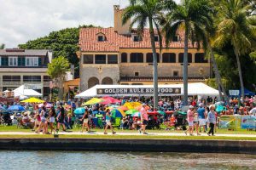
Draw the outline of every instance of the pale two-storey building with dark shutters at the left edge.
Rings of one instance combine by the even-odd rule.
[[[0,92],[27,84],[48,96],[50,78],[46,71],[51,59],[52,52],[45,49],[1,49]]]

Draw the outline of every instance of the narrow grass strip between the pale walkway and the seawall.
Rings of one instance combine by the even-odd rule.
[[[54,139],[53,135],[29,134],[29,135],[12,135],[0,134],[0,139]],[[150,136],[150,135],[78,135],[65,134],[59,135],[60,139],[184,139],[184,140],[253,140],[256,137],[225,137],[225,136]]]

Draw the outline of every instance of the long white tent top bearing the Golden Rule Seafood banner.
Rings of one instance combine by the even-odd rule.
[[[133,93],[126,93],[126,94],[120,94],[116,92],[121,92],[121,90],[124,90],[125,88],[132,88]],[[147,93],[147,94],[140,94],[140,89],[142,88],[153,88],[153,85],[96,85],[92,88],[89,88],[85,90],[83,93],[78,94],[75,96],[75,98],[91,98],[91,97],[101,97],[104,95],[108,96],[153,96],[153,93]],[[159,85],[159,88],[163,89],[165,91],[169,88],[179,88],[180,93],[159,93],[159,96],[172,96],[172,95],[183,95],[183,84],[165,84],[165,85]],[[112,93],[109,94],[100,94],[99,91],[104,89],[112,90]],[[148,90],[148,89],[147,89]],[[150,91],[150,90],[149,90]],[[161,91],[161,90],[160,90]],[[130,91],[131,92],[131,91]],[[138,93],[137,93],[138,92]],[[206,84],[202,82],[197,83],[189,83],[188,86],[188,94],[189,95],[199,95],[199,96],[218,96],[218,90],[211,88],[207,86]]]

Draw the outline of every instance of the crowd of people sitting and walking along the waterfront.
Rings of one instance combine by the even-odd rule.
[[[209,136],[214,135],[218,125],[218,117],[221,115],[256,115],[255,97],[245,99],[243,105],[237,99],[230,99],[230,106],[224,102],[218,102],[217,98],[212,99],[192,99],[189,98],[189,108],[183,111],[183,102],[181,99],[164,98],[160,99],[159,108],[153,108],[153,98],[124,98],[117,105],[124,105],[125,102],[140,102],[142,107],[138,110],[138,116],[123,116],[118,125],[120,129],[136,129],[139,133],[148,134],[146,129],[162,128],[183,130],[189,135],[201,135],[201,132],[207,133]],[[2,104],[8,108],[7,105]],[[78,107],[75,102],[69,99],[67,102],[57,101],[49,107],[47,103],[44,105],[25,104],[27,111],[15,113],[14,117],[18,125],[32,127],[35,133],[58,133],[60,129],[67,131],[72,129],[75,123],[81,124],[81,132],[84,128],[90,132],[91,128],[96,127],[93,119],[102,119],[102,127],[104,134],[108,134],[108,128],[112,133],[113,122],[112,111],[108,109],[109,105],[90,105],[84,107],[84,113],[75,115],[74,110]],[[218,108],[221,111],[218,111]],[[169,114],[161,115],[156,111],[169,112]],[[101,113],[102,117],[97,117]],[[151,114],[154,113],[154,114]],[[165,125],[165,126],[162,126]],[[188,127],[188,128],[187,128]],[[207,132],[207,128],[209,131]]]

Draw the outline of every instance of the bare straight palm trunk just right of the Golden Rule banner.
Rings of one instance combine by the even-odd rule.
[[[188,105],[188,51],[189,51],[189,30],[185,27],[184,55],[183,55],[183,105]]]

